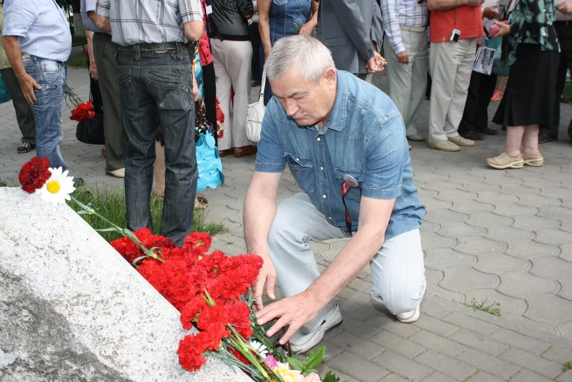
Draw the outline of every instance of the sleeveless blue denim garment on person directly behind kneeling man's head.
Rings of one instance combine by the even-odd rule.
[[[272,45],[284,36],[298,34],[308,22],[312,0],[272,0],[268,13]]]

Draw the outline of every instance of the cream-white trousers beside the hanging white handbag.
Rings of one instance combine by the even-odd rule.
[[[213,38],[210,49],[215,64],[217,77],[216,96],[224,113],[224,136],[219,138],[219,150],[251,145],[245,128],[248,117],[248,101],[250,95],[250,77],[252,61],[252,44],[250,41],[231,41]],[[231,86],[235,91],[232,108],[232,125],[229,109],[231,108]]]

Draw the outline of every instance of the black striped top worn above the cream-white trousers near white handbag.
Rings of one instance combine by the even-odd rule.
[[[210,38],[247,41],[250,39],[246,17],[254,13],[252,0],[210,0],[212,13],[206,25]]]

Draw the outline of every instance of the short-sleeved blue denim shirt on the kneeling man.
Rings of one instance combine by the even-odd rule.
[[[359,182],[359,188],[345,196],[353,232],[358,229],[362,196],[395,198],[386,240],[419,228],[425,207],[413,183],[399,110],[377,87],[346,71],[336,72],[335,104],[321,129],[297,125],[272,97],[262,122],[255,171],[277,173],[288,165],[312,204],[345,233],[344,175]]]

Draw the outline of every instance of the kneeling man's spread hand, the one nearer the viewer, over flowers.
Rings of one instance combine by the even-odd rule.
[[[309,323],[323,306],[310,293],[302,292],[298,295],[287,297],[256,312],[257,324],[264,325],[274,319],[278,319],[266,332],[272,337],[281,328],[288,325],[288,330],[280,338],[280,344],[284,345],[296,333],[302,325]]]

